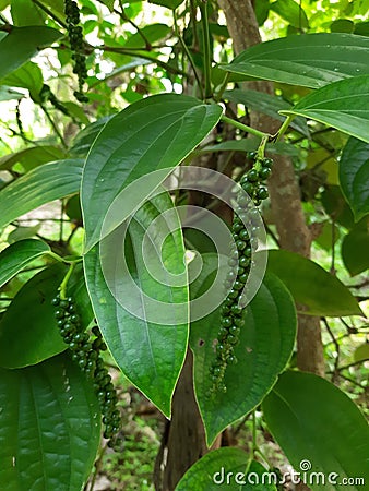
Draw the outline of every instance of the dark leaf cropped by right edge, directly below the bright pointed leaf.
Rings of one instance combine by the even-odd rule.
[[[356,220],[369,213],[369,144],[350,137],[340,159],[340,185]]]

